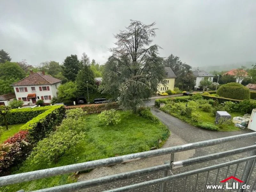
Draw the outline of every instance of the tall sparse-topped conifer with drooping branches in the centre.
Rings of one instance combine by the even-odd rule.
[[[145,25],[131,20],[125,30],[115,35],[116,47],[111,48],[103,75],[103,93],[120,98],[121,107],[132,109],[144,105],[143,99],[164,84],[163,59],[158,56],[158,45],[151,45],[156,36],[155,23]]]

